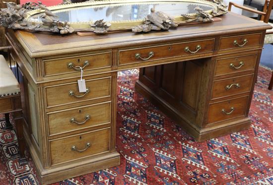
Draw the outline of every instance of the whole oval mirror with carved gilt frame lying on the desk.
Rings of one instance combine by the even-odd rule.
[[[222,0],[63,0],[49,7],[34,2],[6,4],[0,11],[0,26],[60,34],[168,30],[189,22],[211,22],[212,17],[227,13]]]

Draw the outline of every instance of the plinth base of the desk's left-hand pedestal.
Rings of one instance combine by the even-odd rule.
[[[26,132],[24,132],[24,135],[35,164],[38,178],[42,185],[49,185],[120,165],[120,154],[117,151],[114,151],[108,154],[98,155],[97,157],[87,158],[81,161],[78,160],[77,162],[71,162],[61,166],[59,165],[58,167],[43,169],[34,145],[30,141],[29,135]]]

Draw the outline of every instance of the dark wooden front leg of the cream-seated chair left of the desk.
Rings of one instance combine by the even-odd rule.
[[[16,131],[16,136],[17,136],[18,145],[19,145],[19,153],[20,153],[19,164],[25,165],[27,164],[27,160],[25,157],[25,141],[24,141],[24,135],[23,135],[24,118],[22,116],[22,112],[19,111],[14,113],[13,119],[15,123],[15,131]]]

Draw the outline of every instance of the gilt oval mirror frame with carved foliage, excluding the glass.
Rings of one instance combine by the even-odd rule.
[[[64,0],[62,4],[55,6],[44,6],[43,4],[29,3],[21,6],[18,9],[14,4],[7,2],[7,8],[2,8],[0,11],[0,25],[12,29],[25,29],[31,31],[49,31],[67,34],[73,32],[95,32],[107,33],[108,31],[132,30],[133,32],[148,32],[151,30],[167,30],[175,28],[179,25],[188,24],[190,22],[212,22],[213,17],[222,15],[227,12],[227,6],[222,0],[90,0],[85,2],[67,3],[69,0]],[[148,4],[148,3],[171,3],[171,2],[188,2],[210,6],[211,9],[203,10],[199,6],[195,7],[196,13],[181,14],[178,16],[169,16],[164,11],[157,11],[151,8],[150,14],[147,14],[143,19],[137,20],[122,20],[105,22],[103,19],[95,22],[67,22],[58,20],[55,12],[67,11],[68,8],[80,9],[86,6],[102,7],[117,4]],[[8,12],[8,13],[6,13]],[[15,12],[16,15],[21,15],[20,18],[7,24],[5,18],[7,15]],[[2,16],[1,16],[2,15]],[[10,15],[10,17],[12,17]],[[149,17],[149,18],[147,18]],[[7,20],[6,18],[6,20]],[[36,20],[37,19],[37,20]],[[156,20],[154,20],[156,19]],[[163,20],[163,21],[162,21]]]

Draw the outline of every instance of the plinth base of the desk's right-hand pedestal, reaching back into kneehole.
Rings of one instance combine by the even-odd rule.
[[[181,114],[179,114],[179,112],[174,107],[156,95],[151,89],[149,89],[140,81],[136,81],[136,91],[149,99],[150,102],[156,105],[162,112],[168,115],[177,124],[181,125],[187,131],[187,133],[192,135],[197,141],[205,141],[218,136],[230,134],[232,132],[248,129],[250,127],[250,118],[243,118],[221,125],[199,128],[197,125],[187,122],[184,118],[181,117]]]

